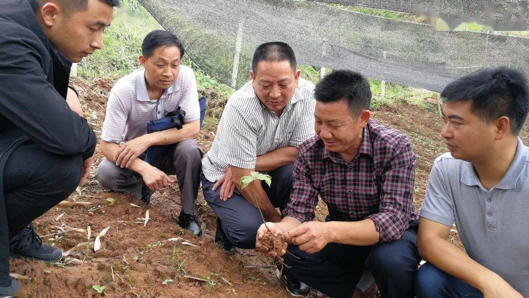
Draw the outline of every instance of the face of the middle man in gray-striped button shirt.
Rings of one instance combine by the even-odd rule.
[[[271,111],[282,113],[294,96],[298,85],[299,70],[293,71],[288,61],[260,61],[257,73],[250,71],[253,90]]]

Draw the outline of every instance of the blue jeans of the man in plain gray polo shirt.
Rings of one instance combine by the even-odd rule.
[[[417,298],[483,298],[477,288],[426,263],[417,272]]]

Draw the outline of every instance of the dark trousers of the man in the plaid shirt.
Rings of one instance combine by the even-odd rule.
[[[375,246],[331,243],[320,252],[307,254],[295,245],[286,254],[283,273],[331,298],[349,298],[364,268],[371,271],[382,296],[414,298],[415,273],[420,258],[417,253],[417,221],[399,240]]]

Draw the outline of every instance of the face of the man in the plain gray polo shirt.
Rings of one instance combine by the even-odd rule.
[[[456,159],[474,162],[494,145],[497,129],[494,122],[486,123],[472,113],[471,101],[455,101],[444,105],[444,126],[441,136]]]

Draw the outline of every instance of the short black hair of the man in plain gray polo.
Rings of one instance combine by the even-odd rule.
[[[507,116],[515,135],[522,130],[529,112],[527,78],[506,67],[482,69],[454,80],[441,92],[441,98],[443,103],[471,101],[472,113],[484,122]]]

